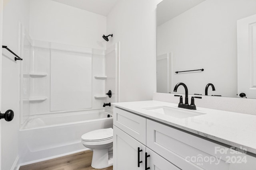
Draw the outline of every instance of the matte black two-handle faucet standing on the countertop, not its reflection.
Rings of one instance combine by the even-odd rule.
[[[178,87],[182,85],[184,88],[185,88],[185,104],[183,104],[183,98],[182,96],[179,96],[179,95],[174,95],[174,96],[179,96],[180,97],[180,103],[178,104],[178,107],[180,108],[184,108],[184,109],[192,109],[192,110],[196,110],[196,105],[195,105],[195,102],[194,102],[194,98],[199,98],[199,99],[202,99],[202,97],[191,97],[191,104],[189,105],[188,104],[188,88],[186,86],[186,84],[184,83],[178,83],[176,84],[176,86],[174,87],[174,92],[177,92],[177,89]]]

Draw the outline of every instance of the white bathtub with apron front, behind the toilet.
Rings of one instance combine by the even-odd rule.
[[[88,150],[81,136],[110,127],[112,113],[104,109],[30,116],[20,127],[20,165]]]

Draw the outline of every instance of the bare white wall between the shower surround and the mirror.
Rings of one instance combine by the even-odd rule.
[[[120,41],[120,102],[151,100],[156,91],[156,5],[119,0],[107,16],[107,47]]]

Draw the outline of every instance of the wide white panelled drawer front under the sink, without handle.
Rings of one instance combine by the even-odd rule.
[[[148,148],[182,170],[252,170],[255,167],[255,158],[252,156],[148,119],[146,143]],[[226,149],[227,152],[220,153],[220,149]],[[229,156],[235,156],[237,160],[239,156],[246,156],[248,162],[226,163]]]

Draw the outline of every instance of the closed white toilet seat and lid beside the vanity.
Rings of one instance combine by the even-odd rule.
[[[85,133],[81,137],[85,145],[104,145],[113,142],[113,129],[98,129]]]

